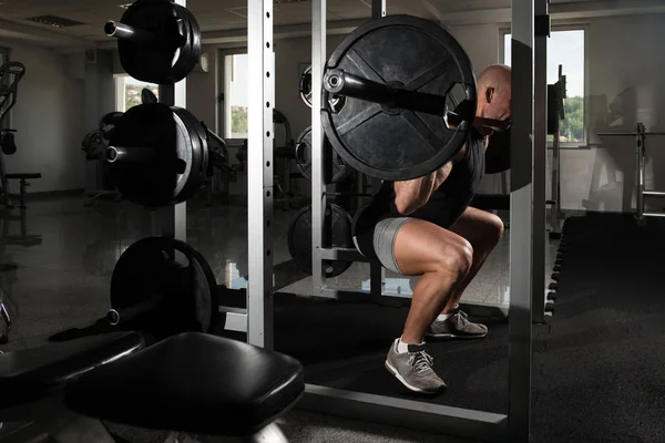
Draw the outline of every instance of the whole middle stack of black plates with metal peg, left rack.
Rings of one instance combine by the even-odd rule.
[[[208,181],[207,135],[186,110],[161,103],[130,109],[109,133],[106,162],[122,195],[160,207],[192,198]]]

